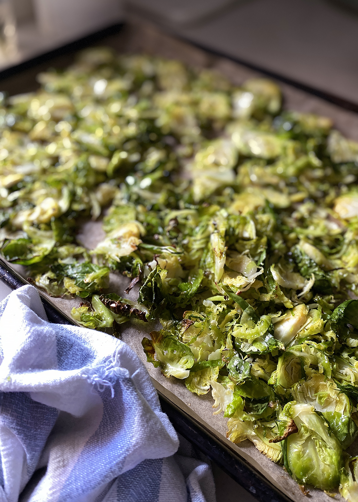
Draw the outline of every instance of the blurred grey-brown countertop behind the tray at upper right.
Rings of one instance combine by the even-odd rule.
[[[177,10],[171,0],[127,4],[202,46],[358,103],[358,14],[327,0],[224,2],[225,9],[192,23],[168,21]]]

